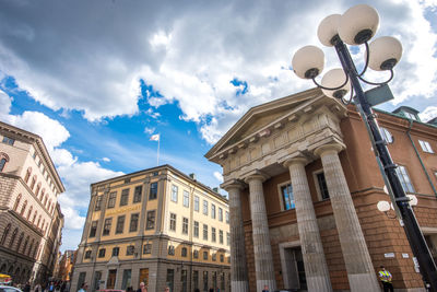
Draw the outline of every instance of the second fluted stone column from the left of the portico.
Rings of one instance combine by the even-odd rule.
[[[262,190],[262,183],[265,178],[260,172],[256,172],[245,179],[249,184],[250,191],[250,215],[252,220],[255,270],[258,292],[261,292],[264,285],[269,285],[270,291],[276,290],[269,223],[267,221],[265,201]]]

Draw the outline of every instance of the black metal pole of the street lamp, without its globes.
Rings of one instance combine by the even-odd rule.
[[[429,284],[429,291],[437,292],[436,264],[434,262],[434,259],[429,253],[429,248],[426,245],[425,238],[418,226],[413,209],[409,203],[410,199],[406,197],[405,191],[402,188],[401,182],[399,180],[399,177],[395,173],[395,168],[398,166],[391,160],[390,152],[387,148],[385,140],[381,137],[378,124],[376,121],[376,116],[373,113],[371,107],[367,103],[367,100],[364,95],[364,91],[358,80],[358,73],[346,45],[344,45],[344,43],[340,38],[335,42],[334,45],[343,70],[349,75],[351,84],[356,92],[356,95],[354,96],[356,107],[361,113],[363,120],[370,129],[370,140],[374,141],[374,149],[376,148],[376,154],[379,156],[383,166],[385,172],[382,173],[382,176],[386,175],[390,183],[394,196],[393,203],[398,206],[401,213],[401,219],[404,223],[404,231],[410,242],[411,249],[413,250],[414,256],[417,258],[422,277],[425,281],[425,287],[426,284]]]

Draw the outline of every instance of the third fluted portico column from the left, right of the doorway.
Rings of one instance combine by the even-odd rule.
[[[308,179],[305,172],[306,164],[307,160],[304,157],[292,159],[284,163],[284,165],[288,167],[290,177],[292,179],[297,227],[299,231],[308,291],[329,292],[332,291],[331,279],[324,258],[311,195],[309,192]]]

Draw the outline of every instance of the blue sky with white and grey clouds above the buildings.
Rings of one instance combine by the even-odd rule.
[[[211,187],[222,171],[203,156],[250,107],[314,86],[293,54],[317,45],[329,14],[367,3],[376,37],[401,40],[394,100],[437,116],[437,0],[0,0],[0,120],[35,132],[66,187],[61,250],[75,249],[90,184],[170,164]],[[363,67],[361,47],[351,47]],[[382,80],[383,72],[368,72]]]

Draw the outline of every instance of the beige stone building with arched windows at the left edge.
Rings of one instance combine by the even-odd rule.
[[[0,272],[43,282],[52,273],[64,188],[39,136],[0,122]]]

